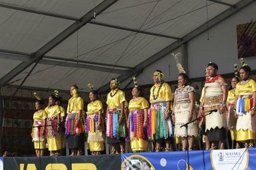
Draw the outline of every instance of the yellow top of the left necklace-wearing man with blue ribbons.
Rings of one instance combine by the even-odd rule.
[[[120,108],[120,104],[125,101],[124,92],[116,88],[115,90],[111,90],[111,92],[108,93],[106,104],[108,104],[108,109],[114,109]]]

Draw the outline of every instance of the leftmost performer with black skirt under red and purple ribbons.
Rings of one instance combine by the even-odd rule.
[[[84,145],[84,100],[78,96],[78,87],[71,86],[66,109],[66,131],[65,135],[68,142],[68,149],[72,150],[71,156],[82,154],[82,145]]]

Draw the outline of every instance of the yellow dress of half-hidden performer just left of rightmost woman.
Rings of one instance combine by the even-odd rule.
[[[235,132],[235,126],[237,124],[237,120],[235,119],[234,112],[234,104],[235,104],[235,94],[233,93],[233,89],[229,90],[227,94],[227,128],[230,130],[232,141],[236,139],[237,135]]]

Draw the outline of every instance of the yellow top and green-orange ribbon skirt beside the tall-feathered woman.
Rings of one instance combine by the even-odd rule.
[[[154,84],[150,89],[150,110],[148,113],[148,137],[150,139],[168,139],[174,135],[174,129],[172,125],[172,115],[170,114],[167,120],[164,120],[164,114],[166,110],[171,110],[166,108],[167,103],[172,101],[172,89],[166,82],[162,84]]]

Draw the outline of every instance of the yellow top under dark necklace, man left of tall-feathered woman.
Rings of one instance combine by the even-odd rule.
[[[156,103],[160,103],[160,102],[168,102],[168,101],[172,100],[172,89],[169,86],[169,84],[164,82],[164,84],[160,88],[160,92],[158,95],[159,88],[160,88],[160,84],[154,84],[154,86],[152,86],[152,88],[150,89],[150,103],[151,104],[156,104]],[[153,91],[154,91],[154,95],[153,95]],[[155,96],[155,99],[154,99],[154,96]],[[157,96],[158,96],[158,98],[156,98]]]

